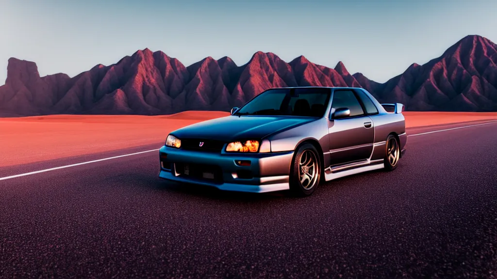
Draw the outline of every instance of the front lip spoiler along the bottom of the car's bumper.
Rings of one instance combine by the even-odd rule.
[[[284,176],[269,176],[269,177],[261,177],[260,180],[264,184],[253,185],[253,184],[238,184],[238,183],[213,183],[200,179],[192,179],[192,178],[184,178],[180,176],[175,176],[171,171],[161,170],[159,173],[159,177],[179,182],[179,183],[187,183],[187,184],[196,184],[203,186],[210,186],[217,188],[223,191],[235,191],[235,192],[248,192],[248,193],[266,193],[266,192],[274,192],[274,191],[284,191],[289,190],[290,185],[288,184],[288,175]],[[272,184],[268,184],[268,182],[274,182]]]

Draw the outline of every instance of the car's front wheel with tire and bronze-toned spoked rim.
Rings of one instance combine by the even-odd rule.
[[[299,146],[290,169],[290,192],[306,197],[318,188],[321,181],[321,161],[318,150],[311,143]]]

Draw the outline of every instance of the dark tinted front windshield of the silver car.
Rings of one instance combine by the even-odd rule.
[[[250,100],[235,115],[323,117],[330,92],[326,87],[269,89]]]

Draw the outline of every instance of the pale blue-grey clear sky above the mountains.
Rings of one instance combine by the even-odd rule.
[[[139,49],[189,66],[304,55],[378,82],[439,57],[466,35],[497,42],[496,0],[0,0],[0,84],[10,57],[75,76]]]

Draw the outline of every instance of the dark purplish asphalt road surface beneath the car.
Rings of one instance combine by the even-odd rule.
[[[0,278],[496,278],[496,158],[488,124],[410,136],[394,172],[303,199],[164,182],[157,152],[7,179]]]

